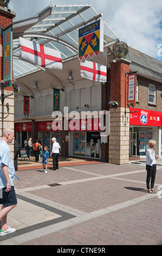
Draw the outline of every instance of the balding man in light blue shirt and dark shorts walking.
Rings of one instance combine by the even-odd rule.
[[[2,191],[2,197],[0,198],[0,204],[2,204],[0,212],[0,220],[2,221],[0,236],[13,233],[16,230],[7,225],[7,215],[17,205],[14,189],[14,180],[17,177],[8,145],[14,138],[14,131],[7,128],[3,131],[2,140],[0,141],[0,189]]]

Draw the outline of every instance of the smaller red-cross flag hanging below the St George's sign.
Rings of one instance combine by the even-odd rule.
[[[98,82],[107,81],[107,69],[104,65],[86,60],[84,63],[81,62],[80,69],[82,77]]]

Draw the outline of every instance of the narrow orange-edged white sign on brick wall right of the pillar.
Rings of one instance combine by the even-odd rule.
[[[136,102],[136,81],[137,74],[128,74],[128,101],[127,104],[129,107],[135,106]]]

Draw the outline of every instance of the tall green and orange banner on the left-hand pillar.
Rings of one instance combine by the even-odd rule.
[[[12,88],[12,27],[3,31],[3,81],[4,89]]]

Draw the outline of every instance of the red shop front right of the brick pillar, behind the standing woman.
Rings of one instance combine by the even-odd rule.
[[[156,141],[155,153],[161,156],[161,124],[162,112],[134,108],[129,113],[129,156],[146,156],[150,139]]]

